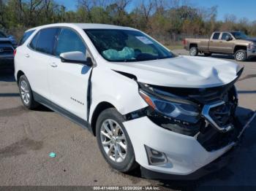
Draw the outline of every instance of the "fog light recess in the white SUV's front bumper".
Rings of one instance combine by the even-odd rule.
[[[152,149],[146,145],[146,154],[148,157],[148,164],[149,165],[164,165],[168,162],[167,157],[164,152],[159,152],[155,149]]]

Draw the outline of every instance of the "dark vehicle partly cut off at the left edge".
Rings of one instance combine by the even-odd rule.
[[[13,53],[17,42],[13,36],[0,31],[0,69],[13,69]]]

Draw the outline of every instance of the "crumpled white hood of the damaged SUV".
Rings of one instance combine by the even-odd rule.
[[[138,82],[167,87],[215,87],[237,77],[238,64],[216,58],[178,56],[176,58],[111,63],[111,69],[133,74]]]

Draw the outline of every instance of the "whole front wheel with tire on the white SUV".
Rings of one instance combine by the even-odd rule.
[[[138,166],[138,163],[135,161],[132,142],[129,139],[127,130],[124,128],[123,122],[124,118],[116,109],[110,108],[104,110],[99,114],[97,119],[96,136],[100,152],[102,152],[102,155],[108,164],[117,171],[129,172],[135,169]],[[112,127],[118,131],[115,132],[114,130],[111,130],[110,124],[112,124]],[[108,136],[106,136],[106,134]],[[121,139],[121,137],[124,139]],[[105,143],[104,146],[103,143]],[[124,146],[127,147],[127,150],[124,149]],[[113,149],[110,150],[110,148]],[[108,155],[108,153],[110,155]]]

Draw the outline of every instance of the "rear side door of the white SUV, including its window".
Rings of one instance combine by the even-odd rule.
[[[32,90],[45,98],[50,98],[48,87],[48,66],[53,57],[53,47],[59,28],[44,28],[37,32],[23,52],[26,76]]]

